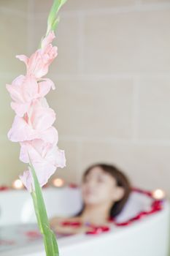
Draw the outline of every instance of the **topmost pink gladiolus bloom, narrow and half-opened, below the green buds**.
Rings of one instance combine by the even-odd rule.
[[[30,58],[25,55],[16,56],[16,58],[26,64],[27,75],[34,75],[35,78],[42,78],[47,74],[48,67],[58,55],[58,48],[51,44],[54,38],[54,32],[50,31],[47,37],[42,40],[42,48],[36,50]]]

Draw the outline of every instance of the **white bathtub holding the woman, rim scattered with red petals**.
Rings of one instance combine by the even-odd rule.
[[[79,188],[43,189],[49,217],[72,216],[82,206]],[[134,217],[150,206],[150,198],[132,193],[119,221]],[[169,203],[163,210],[126,227],[112,226],[100,235],[75,235],[58,238],[61,256],[167,256],[169,247]],[[0,227],[34,223],[31,196],[26,190],[0,192]],[[1,256],[45,256],[42,242],[1,251]]]

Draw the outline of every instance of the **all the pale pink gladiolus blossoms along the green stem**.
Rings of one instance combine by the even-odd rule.
[[[52,80],[42,78],[58,54],[58,48],[51,44],[54,38],[54,32],[50,31],[42,40],[42,48],[30,58],[17,56],[26,63],[26,76],[20,75],[11,85],[6,85],[12,97],[11,107],[16,113],[8,138],[20,143],[20,160],[26,163],[31,160],[41,187],[57,167],[66,166],[64,151],[57,146],[58,131],[53,127],[55,112],[49,108],[45,99],[45,95],[50,89],[55,89],[55,85]],[[20,179],[29,192],[34,189],[30,169],[20,175]]]

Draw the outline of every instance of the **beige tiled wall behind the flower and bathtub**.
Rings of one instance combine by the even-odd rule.
[[[36,50],[51,4],[1,1],[0,184],[25,167],[7,140],[13,113],[4,84],[24,72],[15,55]],[[55,176],[79,183],[88,165],[109,162],[135,186],[170,194],[169,27],[170,0],[68,0],[49,72],[56,90],[47,96],[66,151]]]

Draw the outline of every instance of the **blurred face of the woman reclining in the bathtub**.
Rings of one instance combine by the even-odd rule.
[[[85,204],[113,203],[123,196],[118,188],[115,178],[93,167],[82,181],[82,199]]]

